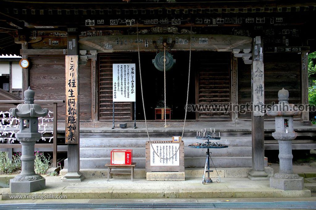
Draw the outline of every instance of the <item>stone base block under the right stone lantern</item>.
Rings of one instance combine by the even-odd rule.
[[[298,177],[297,179],[281,179],[270,177],[270,187],[281,190],[303,190],[304,178]]]

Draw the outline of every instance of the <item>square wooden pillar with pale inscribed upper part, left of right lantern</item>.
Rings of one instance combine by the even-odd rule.
[[[261,37],[255,37],[252,46],[251,70],[251,133],[252,133],[252,171],[251,180],[269,180],[264,172],[264,64]]]

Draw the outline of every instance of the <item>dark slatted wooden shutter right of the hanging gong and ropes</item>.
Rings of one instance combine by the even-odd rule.
[[[230,54],[199,52],[196,61],[196,102],[203,109],[197,112],[197,119],[230,119],[229,111],[219,109],[230,101]]]

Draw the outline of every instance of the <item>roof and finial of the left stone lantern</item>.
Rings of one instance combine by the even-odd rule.
[[[48,109],[38,104],[34,104],[35,92],[30,87],[24,91],[24,104],[17,105],[10,109],[10,114],[15,117],[43,117],[48,113]]]

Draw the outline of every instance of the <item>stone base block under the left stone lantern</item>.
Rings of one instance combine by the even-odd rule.
[[[46,188],[46,180],[42,179],[33,181],[15,181],[10,179],[10,190],[11,192],[34,192],[43,190]]]

